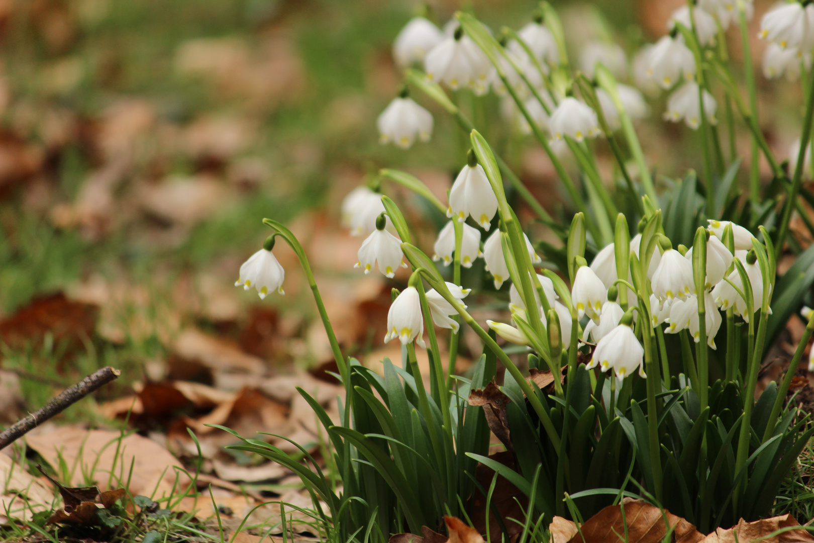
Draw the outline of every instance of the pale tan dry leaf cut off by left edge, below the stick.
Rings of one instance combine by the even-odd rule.
[[[0,524],[9,521],[7,512],[18,520],[28,521],[33,513],[50,510],[54,492],[47,480],[33,477],[19,463],[0,453]],[[18,495],[20,493],[20,495]],[[20,497],[26,497],[25,501]]]

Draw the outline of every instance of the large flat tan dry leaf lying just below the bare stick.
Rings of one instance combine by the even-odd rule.
[[[28,434],[25,437],[28,446],[40,453],[51,466],[59,466],[60,458],[68,466],[77,466],[73,480],[67,481],[68,484],[81,484],[84,482],[84,474],[90,474],[100,489],[110,490],[107,481],[114,469],[114,462],[114,488],[128,480],[130,466],[133,465],[133,476],[128,488],[133,495],[151,496],[155,489],[153,499],[168,496],[176,483],[176,476],[176,493],[183,492],[182,489],[189,484],[189,478],[176,470],[183,467],[181,462],[160,444],[138,434],[131,434],[121,440],[119,456],[116,458],[116,440],[119,439],[120,433],[117,431],[89,431],[72,426],[57,427],[47,433]]]

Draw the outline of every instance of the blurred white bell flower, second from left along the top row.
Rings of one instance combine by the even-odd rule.
[[[446,37],[424,59],[427,79],[443,82],[452,90],[469,87],[475,94],[486,94],[492,63],[470,37],[460,29]]]

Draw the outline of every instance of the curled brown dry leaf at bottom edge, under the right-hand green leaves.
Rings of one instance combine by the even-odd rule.
[[[580,527],[580,533],[571,537],[569,543],[617,543],[624,538],[622,506],[607,506]],[[675,543],[698,543],[704,536],[685,519],[665,510],[667,521],[674,528]],[[658,507],[644,501],[631,500],[624,503],[624,519],[628,524],[630,543],[660,543],[667,534],[667,526]]]

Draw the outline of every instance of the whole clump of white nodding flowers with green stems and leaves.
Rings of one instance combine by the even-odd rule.
[[[807,326],[790,370],[755,401],[764,354],[811,301],[814,282],[814,250],[789,234],[800,196],[814,201],[802,186],[811,172],[814,19],[807,2],[788,2],[760,26],[770,42],[766,77],[807,81],[802,134],[786,163],[759,125],[753,11],[749,0],[689,2],[654,44],[632,51],[589,42],[578,62],[547,2],[516,32],[490,29],[469,13],[443,26],[409,21],[393,47],[405,86],[379,117],[381,141],[405,151],[427,141],[429,111],[440,108],[466,134],[466,147],[449,157],[459,173],[446,201],[418,177],[382,169],[342,204],[343,226],[365,236],[356,267],[379,269],[392,284],[387,332],[374,340],[398,339],[400,360],[365,367],[348,357],[303,247],[265,219],[273,234],[240,269],[238,284],[256,286],[261,297],[282,293],[275,237],[300,259],[345,388],[339,423],[300,391],[330,440],[335,480],[270,445],[240,448],[300,474],[344,540],[365,528],[386,541],[397,528],[420,533],[445,514],[468,513],[478,462],[533,497],[535,519],[573,515],[572,506],[592,515],[622,492],[647,496],[707,532],[768,516],[814,433],[806,416],[784,407],[814,331],[811,310],[800,313]],[[742,39],[746,81],[734,75],[741,70],[732,69],[728,32]],[[503,116],[481,112],[479,122],[509,120],[541,147],[561,183],[560,208],[538,201],[469,108],[457,105],[474,111],[490,93]],[[667,93],[663,120],[683,121],[702,152],[699,173],[659,169],[683,178],[657,184],[658,164],[637,123],[660,93]],[[737,154],[737,129],[751,139],[749,160]],[[599,156],[613,161],[612,177],[597,167]],[[772,171],[771,186],[761,182],[759,160]],[[410,230],[405,204],[387,195],[392,183],[425,200],[410,215],[423,212],[440,226],[434,243],[419,243],[427,238]],[[778,278],[781,256],[796,260]],[[398,274],[401,266],[409,271]],[[475,318],[465,298],[477,314],[492,314]],[[483,353],[464,344],[464,334],[475,335]],[[477,362],[460,376],[462,350]],[[502,396],[488,409],[502,411],[487,417],[482,403],[466,400],[499,366],[505,378],[490,394]],[[514,469],[486,456],[490,430],[514,453]]]

